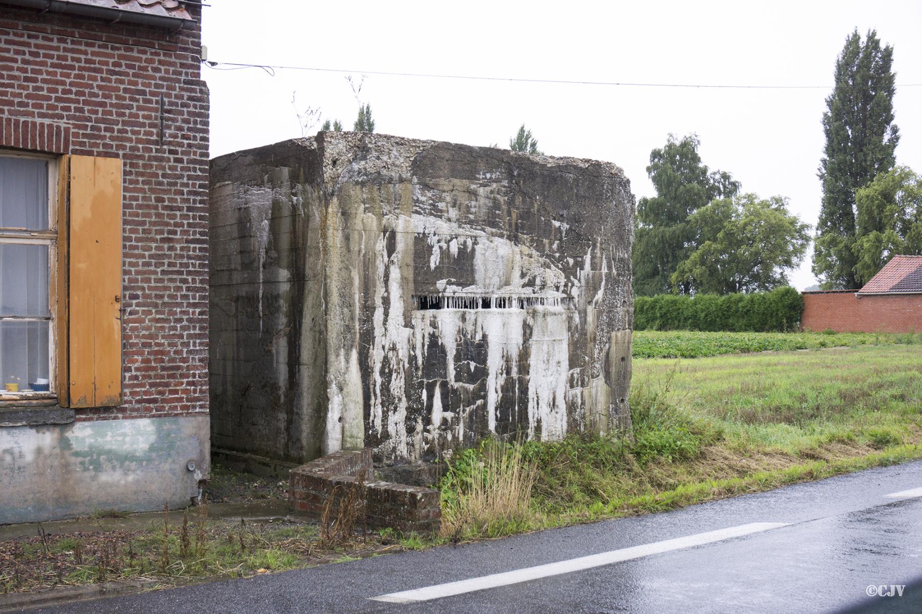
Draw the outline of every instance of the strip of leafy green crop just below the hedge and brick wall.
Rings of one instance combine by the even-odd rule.
[[[634,331],[634,358],[701,358],[766,350],[920,344],[922,333],[709,333]]]

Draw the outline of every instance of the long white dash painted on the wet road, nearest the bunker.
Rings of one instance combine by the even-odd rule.
[[[546,578],[551,575],[560,575],[561,573],[580,572],[585,569],[592,569],[593,567],[610,565],[611,563],[640,559],[641,557],[650,556],[651,554],[691,548],[693,546],[710,544],[715,541],[723,541],[724,539],[732,539],[733,537],[760,533],[786,525],[787,523],[751,523],[749,525],[730,526],[717,531],[708,531],[707,533],[698,533],[686,537],[656,541],[652,544],[644,544],[643,546],[611,550],[609,552],[592,554],[578,559],[552,562],[546,565],[538,565],[537,567],[526,567],[525,569],[518,569],[513,572],[481,575],[479,578],[470,578],[468,580],[459,580],[458,582],[449,582],[446,584],[434,584],[424,588],[370,598],[374,601],[387,601],[390,603],[416,603],[418,601],[428,601],[430,599],[439,599],[445,596],[480,591],[485,588],[496,588],[497,586],[505,586],[507,584],[528,582],[529,580]]]

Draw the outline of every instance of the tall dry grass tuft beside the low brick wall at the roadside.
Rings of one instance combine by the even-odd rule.
[[[488,440],[461,453],[443,478],[443,534],[455,541],[521,530],[533,515],[535,469],[517,443]]]

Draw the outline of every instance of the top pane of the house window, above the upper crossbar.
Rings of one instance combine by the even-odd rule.
[[[48,160],[0,156],[0,227],[48,229]]]

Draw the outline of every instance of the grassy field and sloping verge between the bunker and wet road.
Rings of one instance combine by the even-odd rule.
[[[456,455],[443,537],[658,512],[922,457],[918,348],[635,360],[633,370],[630,433]],[[475,522],[466,496],[497,447],[534,476],[527,513],[511,516],[497,500],[501,511]]]

